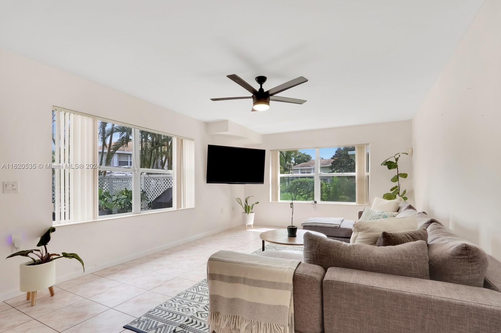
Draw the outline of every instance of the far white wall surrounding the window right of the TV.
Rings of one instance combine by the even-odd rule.
[[[335,116],[335,115],[333,115]],[[265,225],[287,226],[291,220],[289,202],[270,202],[270,149],[295,149],[312,147],[332,147],[370,143],[370,200],[382,196],[394,185],[390,178],[394,170],[381,166],[381,162],[397,152],[407,152],[412,144],[411,121],[394,121],[369,125],[336,127],[328,129],[305,130],[297,132],[263,135],[263,144],[249,147],[266,149],[265,183],[246,184],[245,196],[254,195],[260,201],[255,206],[256,223]],[[402,182],[402,189],[407,188],[409,201],[412,202],[412,156],[402,156],[399,168],[409,176]],[[364,205],[356,204],[317,204],[297,203],[294,206],[294,221],[300,225],[308,217],[344,217],[356,220],[358,211]],[[241,208],[240,208],[241,209]]]

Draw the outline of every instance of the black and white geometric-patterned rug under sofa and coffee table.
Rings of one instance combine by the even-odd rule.
[[[266,250],[302,251],[303,246],[267,244]],[[262,252],[261,248],[251,254]],[[178,293],[165,303],[149,310],[141,317],[124,326],[138,333],[208,333],[206,325],[209,313],[209,289],[207,279]]]

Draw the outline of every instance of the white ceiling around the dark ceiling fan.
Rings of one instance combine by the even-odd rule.
[[[261,133],[410,119],[483,0],[2,0],[0,47]],[[237,74],[303,105],[211,101]]]

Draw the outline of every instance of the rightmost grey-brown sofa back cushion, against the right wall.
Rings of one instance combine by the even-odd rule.
[[[438,223],[427,230],[431,279],[482,287],[487,254]]]

